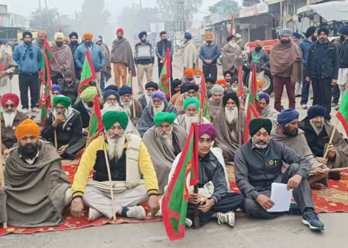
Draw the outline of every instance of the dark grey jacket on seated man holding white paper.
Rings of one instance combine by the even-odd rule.
[[[284,144],[270,139],[267,148],[258,149],[249,140],[234,155],[237,187],[245,197],[255,200],[258,192],[270,190],[271,184],[281,173],[283,162],[298,163],[296,174],[307,177],[310,168],[308,161]]]

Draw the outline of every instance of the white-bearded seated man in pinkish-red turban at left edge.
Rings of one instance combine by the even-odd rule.
[[[16,94],[7,93],[1,96],[1,149],[7,156],[17,143],[14,131],[16,126],[28,116],[17,110],[19,98]]]

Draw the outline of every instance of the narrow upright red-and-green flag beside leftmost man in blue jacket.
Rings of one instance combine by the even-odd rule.
[[[41,100],[40,100],[40,124],[43,125],[47,119],[47,110],[52,108],[52,82],[50,76],[50,63],[53,60],[53,52],[47,42],[47,37],[43,39],[42,59],[41,59]]]

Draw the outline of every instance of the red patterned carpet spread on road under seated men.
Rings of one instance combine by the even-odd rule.
[[[73,180],[73,176],[76,171],[76,161],[63,161],[63,169],[66,172],[70,182]],[[233,167],[227,166],[227,174],[230,179],[231,190],[238,192],[235,186]],[[313,200],[315,210],[319,213],[335,213],[335,212],[347,212],[348,213],[348,174],[342,173],[342,180],[332,181],[329,180],[328,189],[313,190]],[[148,212],[146,203],[142,204],[146,212]],[[245,216],[243,213],[239,213],[237,217]],[[122,218],[117,216],[116,223],[107,218],[99,218],[93,222],[87,221],[88,211],[85,209],[84,216],[75,218],[72,217],[68,211],[65,211],[64,222],[57,227],[47,228],[16,228],[9,226],[6,230],[0,228],[0,236],[7,234],[32,234],[37,232],[51,232],[51,231],[63,231],[73,230],[87,227],[98,227],[105,224],[122,224],[122,223],[147,223],[161,221],[161,217],[151,218],[146,217],[145,220],[136,220],[129,218]],[[2,225],[1,225],[2,226]]]

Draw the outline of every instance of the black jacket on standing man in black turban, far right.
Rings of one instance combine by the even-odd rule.
[[[316,63],[320,56],[323,56],[324,64],[320,70],[320,74],[316,73]],[[337,47],[330,41],[328,41],[328,45],[324,46],[324,51],[320,54],[319,49],[319,41],[314,42],[310,48],[307,58],[307,64],[305,65],[305,77],[315,78],[330,78],[337,79],[338,78],[338,50]]]

